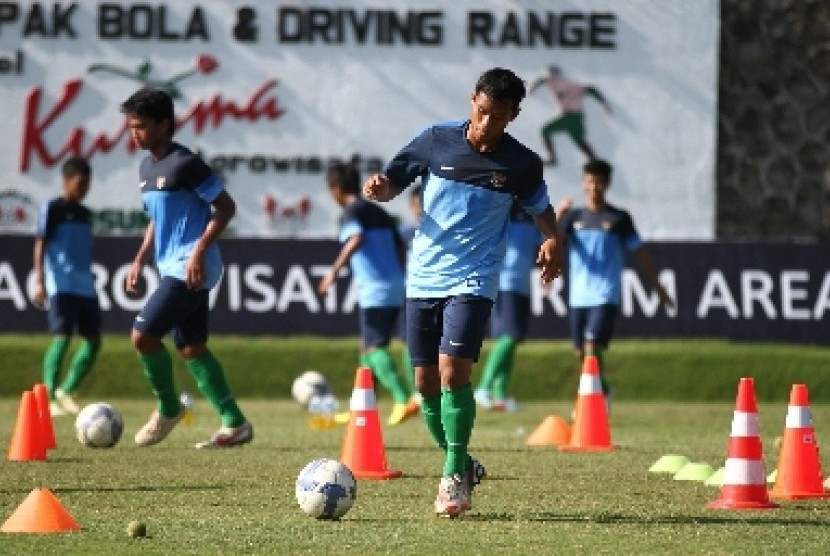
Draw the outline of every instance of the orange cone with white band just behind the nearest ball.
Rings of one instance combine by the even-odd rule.
[[[380,430],[372,370],[357,369],[349,400],[349,423],[340,450],[340,461],[358,479],[394,479],[403,472],[386,467],[386,449]]]

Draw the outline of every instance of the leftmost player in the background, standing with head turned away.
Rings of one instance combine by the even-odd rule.
[[[72,157],[61,167],[63,195],[40,211],[34,247],[34,301],[49,299],[52,341],[43,358],[43,383],[52,415],[78,413],[72,394],[89,374],[101,349],[101,310],[92,274],[92,212],[81,204],[89,191],[92,169]],[[83,343],[60,386],[58,377],[77,328]]]

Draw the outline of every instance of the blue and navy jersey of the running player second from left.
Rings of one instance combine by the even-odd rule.
[[[186,147],[173,143],[161,160],[147,156],[139,169],[141,198],[156,229],[156,265],[162,276],[185,281],[185,265],[211,219],[211,203],[224,191],[213,170]],[[214,243],[205,253],[205,289],[222,275]]]

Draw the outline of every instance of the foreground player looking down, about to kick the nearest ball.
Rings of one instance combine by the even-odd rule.
[[[524,96],[512,71],[484,72],[468,120],[427,127],[363,185],[366,198],[387,201],[421,178],[421,222],[407,270],[407,343],[424,420],[445,453],[435,500],[441,516],[470,509],[483,476],[467,453],[476,409],[470,374],[498,290],[514,199],[547,238],[537,256],[542,280],[561,272],[542,161],[505,132]]]

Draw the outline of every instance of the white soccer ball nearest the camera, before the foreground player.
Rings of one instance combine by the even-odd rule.
[[[333,459],[316,459],[297,477],[297,503],[317,519],[340,519],[354,504],[357,483],[351,470]]]

